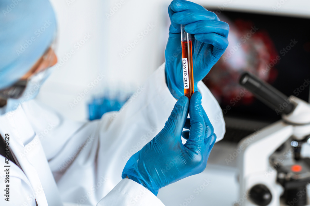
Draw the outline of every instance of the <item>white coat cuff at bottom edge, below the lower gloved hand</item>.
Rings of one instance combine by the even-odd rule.
[[[164,206],[164,204],[148,189],[132,181],[122,179],[97,206]]]

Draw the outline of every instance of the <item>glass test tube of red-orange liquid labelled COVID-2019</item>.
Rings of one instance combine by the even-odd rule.
[[[185,32],[184,27],[185,25],[181,24],[184,95],[191,99],[194,93],[192,36]]]

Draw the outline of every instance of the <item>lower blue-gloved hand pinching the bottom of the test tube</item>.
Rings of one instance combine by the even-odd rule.
[[[182,133],[183,127],[190,130]],[[162,131],[128,160],[122,178],[128,176],[157,195],[160,188],[201,173],[216,140],[213,131],[201,94],[194,92],[190,102],[181,96]],[[187,139],[184,145],[181,135]]]

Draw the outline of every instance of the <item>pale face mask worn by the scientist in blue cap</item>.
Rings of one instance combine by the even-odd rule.
[[[21,103],[34,99],[38,95],[42,84],[50,76],[54,68],[55,67],[50,67],[42,72],[39,72],[38,74],[33,75],[27,82],[26,88],[20,98],[7,99],[7,105],[0,108],[0,115],[14,111]]]

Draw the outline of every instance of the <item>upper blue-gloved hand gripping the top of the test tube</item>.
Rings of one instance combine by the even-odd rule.
[[[194,86],[203,79],[228,46],[227,23],[204,7],[184,0],[173,0],[168,8],[171,21],[166,45],[166,83],[175,98],[184,95],[180,24],[192,36]]]

